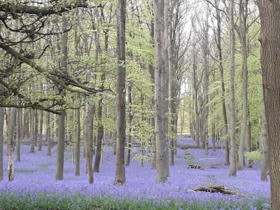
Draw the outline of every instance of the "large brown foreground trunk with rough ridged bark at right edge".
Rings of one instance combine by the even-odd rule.
[[[260,10],[260,61],[270,157],[272,210],[280,209],[280,2],[258,0]]]

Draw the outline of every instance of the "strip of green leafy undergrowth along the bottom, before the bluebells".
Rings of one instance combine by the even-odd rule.
[[[270,209],[269,202],[262,198],[255,198],[254,200],[240,199],[236,202],[219,202],[217,200],[208,200],[202,202],[199,200],[180,201],[180,200],[116,200],[113,198],[97,198],[85,197],[83,195],[69,195],[67,197],[60,197],[50,194],[39,194],[34,197],[30,194],[13,195],[11,193],[0,195],[0,209],[1,210],[79,210],[79,209],[157,209],[157,210],[214,210],[214,209]]]

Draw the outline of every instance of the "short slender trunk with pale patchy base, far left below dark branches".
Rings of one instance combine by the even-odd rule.
[[[15,120],[17,118],[17,109],[10,109],[10,117],[8,120],[8,137],[7,137],[7,155],[8,155],[8,181],[13,181],[13,132],[15,128]]]

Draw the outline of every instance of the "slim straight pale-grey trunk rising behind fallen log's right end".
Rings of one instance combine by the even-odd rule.
[[[235,1],[230,0],[230,176],[237,174],[235,142]]]

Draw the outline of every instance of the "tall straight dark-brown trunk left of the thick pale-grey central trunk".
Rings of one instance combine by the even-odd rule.
[[[125,183],[125,18],[126,1],[118,0],[117,13],[117,147],[115,183]]]

